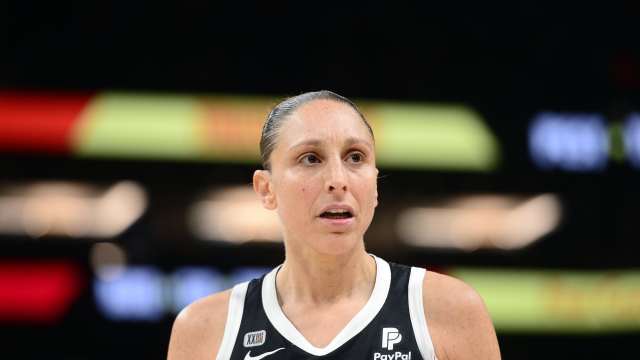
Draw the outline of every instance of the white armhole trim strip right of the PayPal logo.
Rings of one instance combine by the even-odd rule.
[[[425,360],[436,360],[436,353],[433,349],[433,342],[429,334],[427,319],[424,316],[424,301],[422,288],[424,283],[425,269],[412,267],[409,275],[409,316],[411,317],[411,327],[418,343],[420,354]]]

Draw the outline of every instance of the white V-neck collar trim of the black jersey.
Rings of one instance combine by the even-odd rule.
[[[371,297],[327,346],[319,348],[312,345],[282,312],[276,294],[276,274],[280,267],[273,269],[262,282],[262,304],[267,318],[285,339],[300,349],[315,356],[329,354],[364,330],[380,312],[387,299],[391,285],[391,269],[386,261],[376,256],[373,258],[376,260],[376,282]]]

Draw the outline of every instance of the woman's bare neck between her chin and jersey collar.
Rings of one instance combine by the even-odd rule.
[[[308,249],[307,249],[308,250]],[[343,255],[308,250],[289,252],[276,277],[281,305],[288,301],[330,304],[346,298],[368,299],[376,278],[376,262],[362,244]]]

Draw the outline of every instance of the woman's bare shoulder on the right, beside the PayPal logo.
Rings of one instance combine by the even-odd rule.
[[[500,350],[480,295],[452,276],[427,271],[425,318],[438,359],[499,359]]]

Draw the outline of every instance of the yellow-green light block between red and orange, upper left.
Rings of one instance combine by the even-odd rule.
[[[189,97],[99,95],[75,129],[74,149],[85,157],[198,158],[198,117]]]

